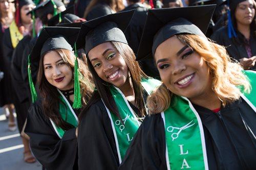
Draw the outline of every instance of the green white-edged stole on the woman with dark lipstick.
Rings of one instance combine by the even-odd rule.
[[[73,125],[74,127],[78,126],[78,118],[72,109],[71,105],[69,104],[66,97],[57,89],[60,93],[59,99],[61,102],[59,102],[59,114],[61,115],[62,119],[65,120],[65,122]],[[61,129],[60,127],[56,126],[55,123],[50,119],[52,126],[57,133],[59,138],[62,138],[65,130]]]

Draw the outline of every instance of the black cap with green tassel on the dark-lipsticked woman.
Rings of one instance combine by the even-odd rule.
[[[28,57],[28,76],[33,102],[36,101],[37,94],[31,76],[31,63],[39,63],[40,58],[42,56],[44,56],[48,51],[54,49],[62,48],[72,51],[72,46],[75,43],[76,36],[79,33],[79,30],[79,28],[66,27],[44,27],[41,30],[40,35],[38,36],[37,41],[33,47],[33,50],[31,51],[31,54]],[[80,91],[80,86],[74,88],[79,88]],[[77,95],[74,94],[74,103],[78,100],[79,99],[77,99]]]

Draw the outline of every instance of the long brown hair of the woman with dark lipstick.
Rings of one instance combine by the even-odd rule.
[[[72,71],[74,71],[75,55],[73,52],[66,49],[61,49],[61,48],[55,49],[52,51],[57,52],[61,56],[63,61],[72,68]],[[61,115],[59,114],[59,111],[58,111],[58,108],[59,108],[58,104],[60,102],[59,93],[57,91],[57,88],[51,85],[45,77],[44,64],[43,64],[44,56],[40,58],[39,69],[37,74],[37,84],[39,86],[39,92],[42,99],[42,110],[47,117],[53,120],[56,126],[64,130],[68,130],[73,127],[72,125],[65,122],[61,118]],[[92,95],[94,86],[91,81],[92,76],[88,71],[87,64],[84,61],[84,59],[78,58],[78,65],[79,65],[79,71],[82,75],[82,77],[79,77],[79,83],[80,83],[81,96],[82,96],[82,106],[84,107],[89,101],[90,96]]]

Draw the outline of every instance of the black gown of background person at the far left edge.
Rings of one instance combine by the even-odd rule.
[[[2,80],[4,82],[3,95],[5,96],[5,104],[12,104],[13,100],[15,99],[14,93],[13,93],[13,85],[11,82],[11,74],[10,74],[13,46],[11,42],[11,35],[10,35],[9,28],[5,30],[2,42],[3,42],[3,61],[4,61],[4,72],[5,72],[5,77]]]

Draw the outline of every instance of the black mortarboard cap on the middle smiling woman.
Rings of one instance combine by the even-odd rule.
[[[105,15],[82,23],[76,40],[77,49],[85,46],[86,54],[93,47],[108,41],[118,41],[127,44],[124,36],[135,10]]]

